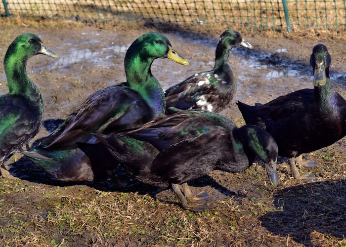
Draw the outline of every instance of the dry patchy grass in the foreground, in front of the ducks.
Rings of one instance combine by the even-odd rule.
[[[291,179],[281,165],[280,189],[266,185],[259,165],[240,174],[215,171],[218,187],[241,192],[208,202],[215,209],[201,213],[182,210],[173,192],[151,187],[107,192],[1,179],[0,239],[3,246],[344,247],[346,163],[335,152],[322,151],[323,168],[315,172],[326,179],[317,183]]]

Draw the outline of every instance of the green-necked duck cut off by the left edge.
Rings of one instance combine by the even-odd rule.
[[[39,132],[43,122],[43,98],[26,71],[28,60],[38,54],[59,58],[39,36],[25,33],[12,41],[3,60],[8,88],[0,96],[0,170],[4,178],[13,178],[4,163]]]

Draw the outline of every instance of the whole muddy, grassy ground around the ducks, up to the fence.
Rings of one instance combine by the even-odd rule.
[[[153,31],[119,31],[82,26],[48,31],[3,28],[0,62],[7,46],[24,32],[38,34],[60,59],[39,55],[28,73],[46,105],[46,135],[89,94],[125,81],[127,47],[139,35]],[[218,35],[213,39],[186,32],[166,33],[173,47],[189,59],[184,67],[167,59],[153,63],[152,72],[164,88],[188,76],[212,69]],[[238,75],[238,90],[222,114],[244,124],[235,101],[265,103],[279,95],[312,87],[308,64],[312,47],[323,42],[332,56],[332,81],[346,97],[346,45],[327,37],[273,36],[244,38],[254,50],[237,47],[230,63]],[[1,93],[6,92],[0,68]],[[110,180],[97,184],[55,181],[27,159],[15,155],[10,173],[0,180],[0,243],[18,245],[121,246],[346,246],[346,139],[306,154],[317,161],[318,181],[291,177],[287,160],[278,163],[280,187],[270,186],[264,169],[254,164],[244,173],[214,171],[190,183],[193,192],[214,196],[203,213],[180,208],[171,190],[134,185],[118,191]],[[302,171],[303,172],[303,171]],[[126,174],[124,175],[126,177]],[[130,180],[129,177],[127,179]]]

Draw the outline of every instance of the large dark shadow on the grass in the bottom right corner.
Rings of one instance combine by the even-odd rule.
[[[259,218],[268,231],[314,246],[316,232],[346,238],[346,179],[297,185],[275,193],[278,211]]]

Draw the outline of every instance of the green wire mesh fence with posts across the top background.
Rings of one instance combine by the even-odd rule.
[[[216,24],[264,29],[346,28],[346,0],[2,0],[2,15]]]

